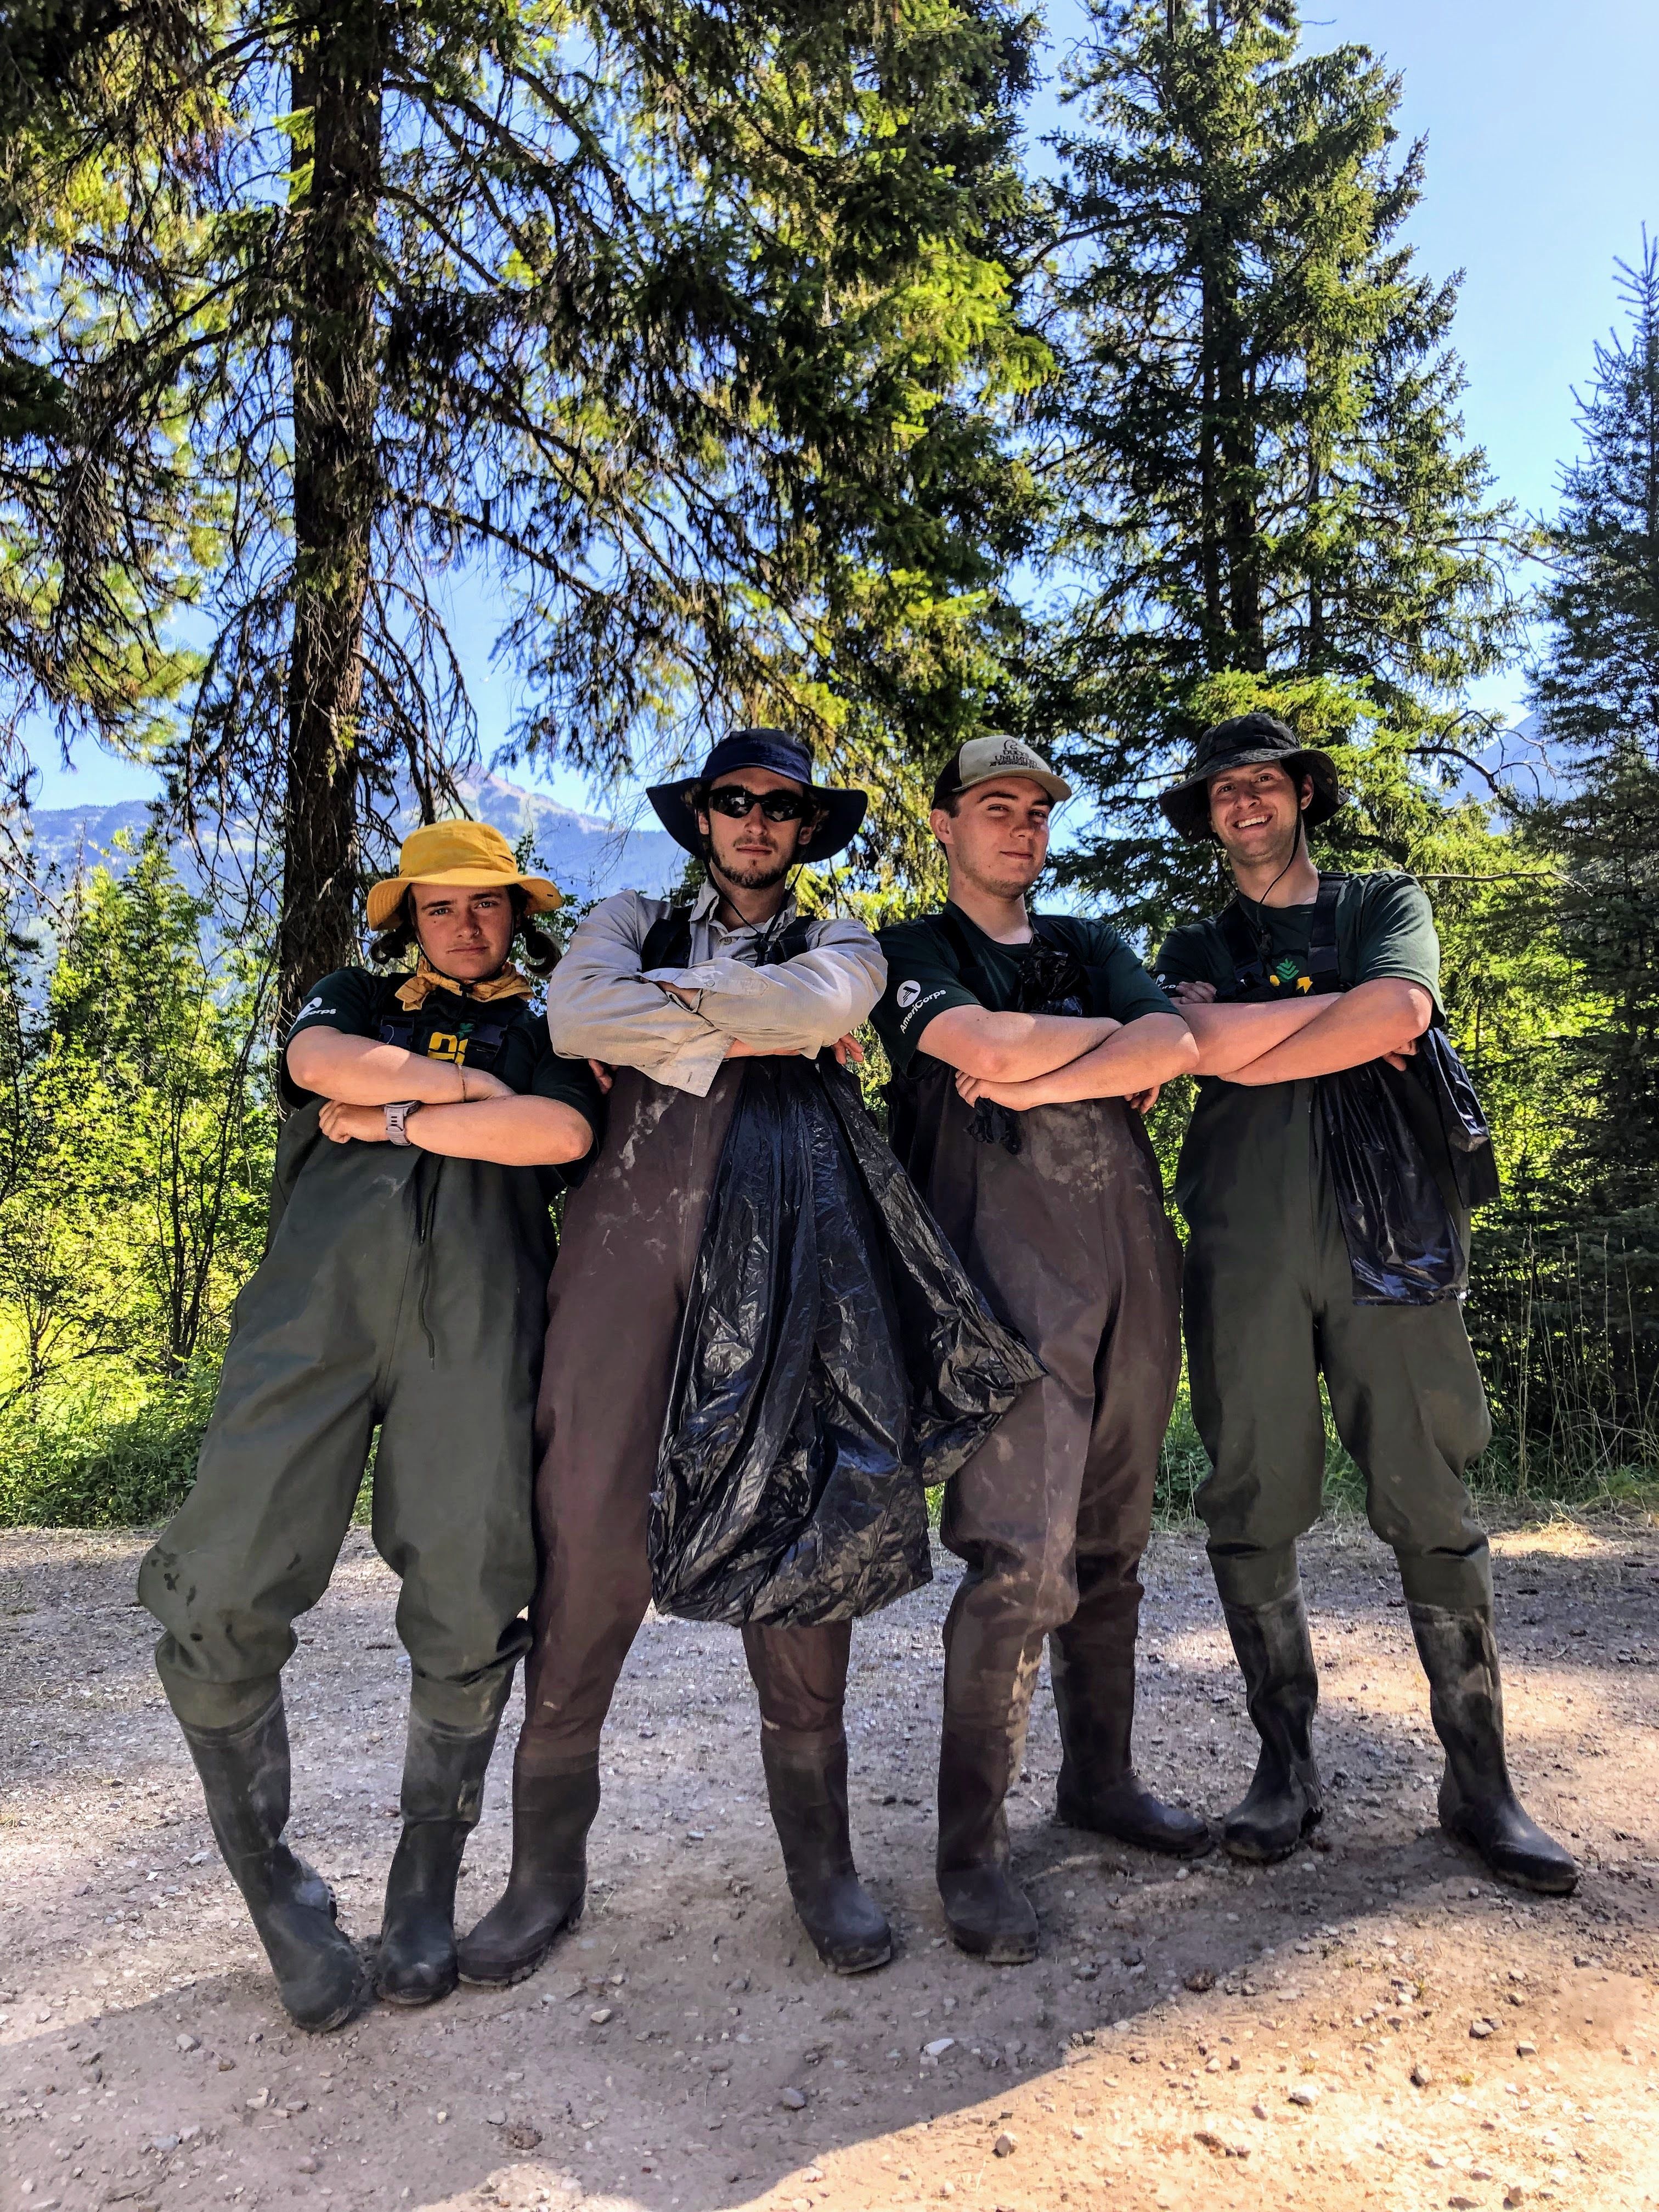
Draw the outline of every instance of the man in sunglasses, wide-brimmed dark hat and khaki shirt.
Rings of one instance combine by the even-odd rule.
[[[794,872],[854,836],[865,794],[812,781],[787,730],[734,730],[701,774],[650,792],[703,863],[690,905],[622,891],[582,918],[553,980],[560,1053],[615,1071],[608,1137],[564,1214],[549,1294],[535,1484],[542,1584],[513,1763],[513,1869],[460,1971],[533,1973],[582,1913],[599,1736],[650,1604],[648,1520],[710,1190],[743,1062],[845,1055],[883,982],[863,922],[803,916]],[[741,1316],[739,1316],[741,1318]],[[818,1955],[863,1973],[891,1933],[847,1823],[849,1624],[743,1628],[790,1893]]]

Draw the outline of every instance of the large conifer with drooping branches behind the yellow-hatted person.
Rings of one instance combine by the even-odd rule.
[[[119,312],[217,502],[188,825],[281,865],[281,1004],[352,958],[389,803],[473,745],[484,566],[522,750],[606,774],[776,714],[891,774],[971,717],[1022,480],[1002,0],[195,0],[212,108]]]

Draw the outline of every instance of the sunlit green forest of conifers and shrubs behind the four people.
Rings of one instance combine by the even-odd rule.
[[[1316,856],[1429,887],[1504,1168],[1482,1482],[1652,1491],[1641,210],[1522,515],[1462,431],[1455,285],[1402,241],[1422,148],[1380,58],[1310,53],[1290,0],[1097,0],[1031,148],[1035,51],[1000,0],[7,11],[0,1520],[153,1520],[190,1480],[272,1040],[358,953],[398,796],[442,814],[476,765],[456,566],[526,701],[509,761],[604,783],[790,721],[874,794],[814,894],[872,920],[938,889],[962,737],[1066,765],[1057,896],[1146,947],[1221,896],[1155,812],[1192,737],[1270,706],[1329,745]],[[1469,695],[1513,668],[1502,732]],[[157,770],[119,874],[33,865],[44,745]],[[1175,1509],[1194,1455],[1177,1420]]]

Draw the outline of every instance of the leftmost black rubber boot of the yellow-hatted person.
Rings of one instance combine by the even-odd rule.
[[[184,1725],[184,1723],[181,1723]],[[265,1947],[283,2011],[307,2035],[343,2028],[369,2002],[334,1891],[283,1843],[288,1721],[281,1692],[241,1728],[184,1728],[226,1867]]]

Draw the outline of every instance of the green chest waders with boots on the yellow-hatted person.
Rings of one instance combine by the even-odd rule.
[[[493,1048],[476,1044],[467,1064],[484,1066]],[[332,1144],[319,1115],[312,1102],[283,1126],[270,1243],[237,1298],[197,1480],[139,1573],[219,1849],[290,2017],[312,2031],[349,2020],[367,1986],[327,1882],[283,1843],[292,1624],[330,1584],[374,1447],[374,1546],[400,1582],[409,1655],[374,1982],[389,2002],[431,2002],[456,1982],[456,1876],[529,1644],[553,1259],[533,1168]]]

